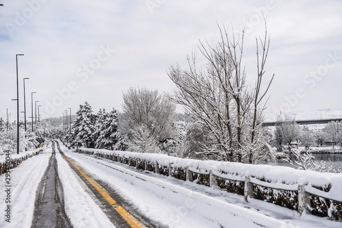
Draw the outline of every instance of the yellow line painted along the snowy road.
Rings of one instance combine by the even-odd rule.
[[[129,212],[127,212],[127,210],[124,210],[123,207],[121,207],[118,203],[116,203],[116,201],[111,198],[109,196],[109,194],[107,194],[107,192],[105,192],[105,190],[103,190],[100,186],[98,186],[97,183],[95,183],[90,177],[88,177],[88,175],[86,175],[86,173],[84,173],[81,168],[77,167],[73,162],[71,162],[68,157],[62,155],[68,162],[70,162],[70,164],[72,164],[78,171],[79,173],[81,173],[81,175],[83,175],[84,178],[86,178],[89,183],[96,189],[96,191],[98,191],[98,193],[101,194],[101,196],[109,203],[109,205],[111,205],[111,207],[114,208],[114,210],[116,210],[116,212],[118,212],[118,214],[120,214],[120,216],[122,216],[122,218],[124,218],[124,220],[126,220],[126,222],[133,228],[140,228],[143,227],[133,216],[131,216],[131,214],[129,214]]]

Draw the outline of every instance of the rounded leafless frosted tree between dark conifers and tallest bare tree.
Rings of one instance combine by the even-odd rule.
[[[175,105],[170,99],[157,90],[147,88],[129,88],[124,92],[123,99],[120,132],[127,134],[128,141],[137,143],[155,139],[155,144],[158,144],[174,137]],[[137,138],[139,136],[142,137],[140,140]]]

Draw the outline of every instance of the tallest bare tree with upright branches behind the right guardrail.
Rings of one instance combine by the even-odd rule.
[[[198,50],[207,60],[196,66],[196,51],[188,56],[188,70],[170,66],[168,75],[178,90],[171,99],[183,105],[198,124],[211,134],[215,144],[204,152],[216,160],[260,163],[269,153],[263,129],[262,101],[272,83],[271,77],[262,92],[269,38],[257,38],[257,81],[254,87],[246,84],[242,64],[244,31],[241,38],[229,37],[220,29],[220,41],[215,45],[199,42]],[[260,50],[259,50],[260,49]],[[260,51],[260,52],[259,52]]]

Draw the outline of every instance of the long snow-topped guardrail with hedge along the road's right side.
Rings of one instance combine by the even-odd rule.
[[[184,181],[219,188],[282,207],[306,209],[315,216],[342,220],[342,174],[318,173],[290,167],[181,159],[163,154],[77,149]]]

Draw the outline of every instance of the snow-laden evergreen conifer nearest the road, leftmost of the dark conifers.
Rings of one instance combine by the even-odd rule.
[[[76,114],[77,118],[73,125],[73,138],[75,138],[74,143],[79,145],[94,142],[92,134],[95,131],[95,115],[92,112],[92,107],[88,102],[84,103],[84,105],[79,105],[79,111],[77,111]]]

